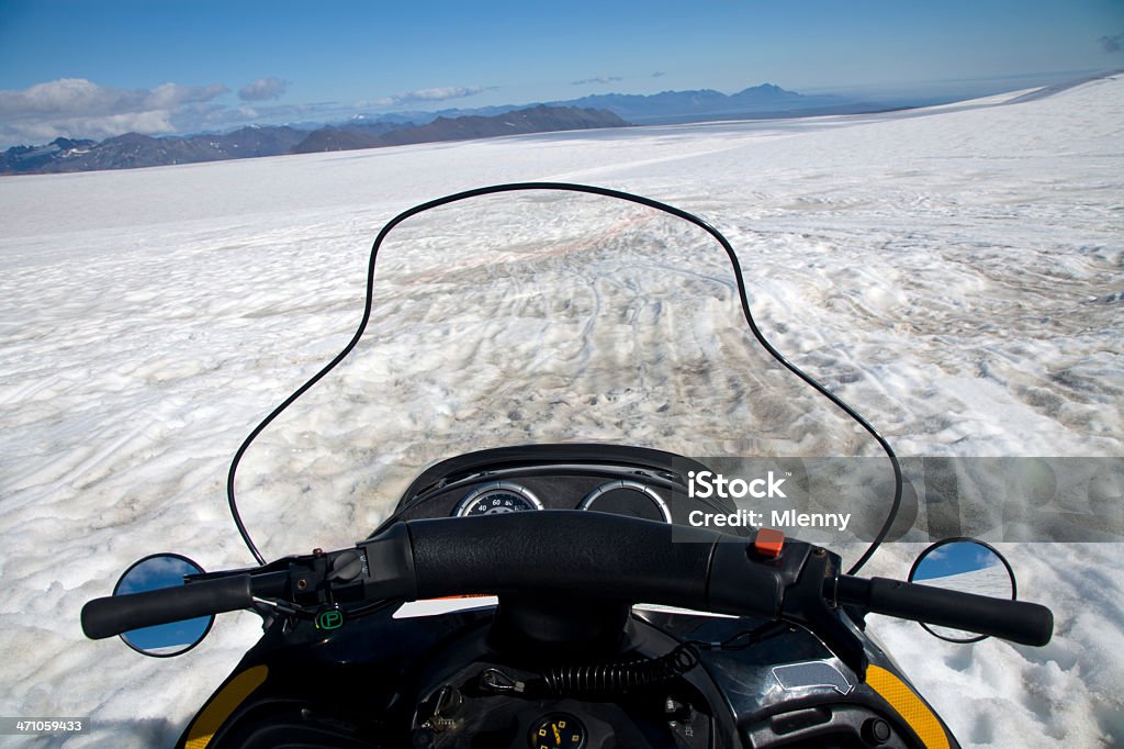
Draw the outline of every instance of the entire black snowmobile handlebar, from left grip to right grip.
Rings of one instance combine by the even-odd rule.
[[[312,610],[468,594],[627,599],[781,619],[816,631],[836,651],[850,638],[830,614],[841,604],[1024,644],[1045,644],[1053,631],[1053,615],[1039,604],[840,575],[839,557],[794,539],[773,556],[708,529],[566,511],[398,522],[353,549],[97,598],[83,607],[82,628],[101,639],[246,608],[255,596]]]

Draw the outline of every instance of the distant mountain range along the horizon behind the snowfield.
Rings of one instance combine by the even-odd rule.
[[[869,102],[805,96],[770,83],[734,94],[710,89],[651,96],[606,93],[531,107],[356,115],[332,125],[250,126],[223,134],[153,137],[126,133],[101,142],[61,137],[46,145],[15,146],[0,153],[0,174],[135,169],[632,124],[801,117],[877,109],[878,105]]]

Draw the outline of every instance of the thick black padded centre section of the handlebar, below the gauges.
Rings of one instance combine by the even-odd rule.
[[[787,579],[744,539],[598,512],[399,522],[360,547],[371,599],[552,595],[778,616]],[[801,557],[791,558],[795,578]]]

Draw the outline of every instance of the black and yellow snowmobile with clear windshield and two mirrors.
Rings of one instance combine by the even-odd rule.
[[[955,747],[870,614],[1027,646],[1052,614],[970,539],[908,581],[858,575],[903,536],[899,461],[749,298],[725,236],[635,195],[516,183],[406,210],[357,331],[235,454],[256,566],[147,557],[83,631],[167,657],[216,614],[261,615],[189,749]],[[310,541],[333,550],[293,553]]]

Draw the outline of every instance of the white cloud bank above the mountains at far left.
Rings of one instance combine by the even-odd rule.
[[[0,141],[43,143],[60,136],[173,133],[180,119],[206,117],[216,107],[210,102],[228,92],[221,83],[116,89],[80,78],[0,90]]]

